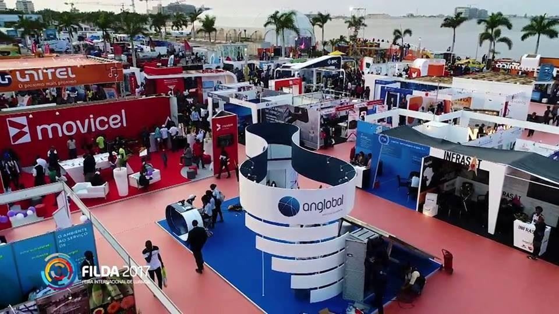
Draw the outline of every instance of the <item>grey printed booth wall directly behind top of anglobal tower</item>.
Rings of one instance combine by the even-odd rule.
[[[301,144],[319,149],[320,111],[291,105],[276,106],[260,111],[261,122],[285,122],[301,129]]]

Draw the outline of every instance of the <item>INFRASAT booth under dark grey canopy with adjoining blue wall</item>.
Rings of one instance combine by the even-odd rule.
[[[358,122],[356,152],[371,153],[366,190],[506,245],[533,250],[532,215],[547,225],[540,255],[559,264],[559,164],[536,153],[455,144],[408,126],[377,133]]]

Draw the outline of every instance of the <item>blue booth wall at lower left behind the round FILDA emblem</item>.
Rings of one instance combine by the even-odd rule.
[[[87,250],[93,252],[97,264],[91,222],[0,246],[0,308],[26,301],[29,292],[46,287],[41,271],[50,254],[69,255],[80,278],[79,267]]]

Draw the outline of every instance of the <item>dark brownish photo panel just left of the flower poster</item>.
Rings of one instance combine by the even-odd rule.
[[[78,284],[68,289],[37,298],[39,314],[89,313],[87,287]]]

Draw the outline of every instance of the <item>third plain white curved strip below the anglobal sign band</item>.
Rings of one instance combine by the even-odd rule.
[[[345,261],[345,250],[316,259],[282,259],[272,256],[272,270],[282,273],[309,274],[334,268]]]

